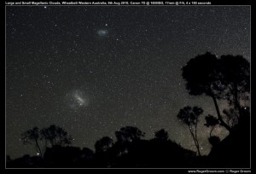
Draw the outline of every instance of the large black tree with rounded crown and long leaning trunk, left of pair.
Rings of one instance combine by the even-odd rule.
[[[230,126],[224,122],[223,116],[219,112],[217,99],[223,98],[224,85],[220,85],[220,72],[216,55],[207,52],[205,55],[197,55],[190,59],[186,66],[182,68],[183,78],[186,82],[186,89],[190,95],[199,96],[205,94],[211,96],[220,125],[228,131]]]

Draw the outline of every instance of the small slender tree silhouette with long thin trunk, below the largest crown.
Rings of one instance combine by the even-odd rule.
[[[200,156],[200,145],[197,140],[197,124],[198,118],[201,113],[203,113],[201,107],[183,107],[183,109],[180,109],[177,113],[177,118],[182,120],[184,124],[189,126],[189,132],[193,137],[193,140],[195,142],[195,148],[197,149],[198,155]]]

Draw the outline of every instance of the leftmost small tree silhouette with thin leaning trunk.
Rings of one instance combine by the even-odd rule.
[[[40,154],[40,156],[42,156],[42,150],[39,146],[39,129],[38,127],[34,127],[28,131],[25,131],[23,133],[21,133],[21,141],[23,142],[23,144],[32,144],[35,143],[36,146],[36,150],[37,152]]]

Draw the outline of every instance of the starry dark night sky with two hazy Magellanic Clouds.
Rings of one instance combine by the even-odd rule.
[[[204,116],[216,111],[210,97],[189,96],[181,71],[207,51],[250,61],[249,6],[7,6],[6,154],[36,155],[20,133],[53,124],[80,148],[132,125],[145,139],[164,128],[195,151],[177,120],[187,105],[204,109],[198,138],[208,154]]]

